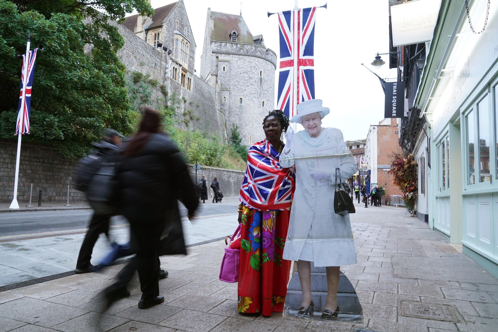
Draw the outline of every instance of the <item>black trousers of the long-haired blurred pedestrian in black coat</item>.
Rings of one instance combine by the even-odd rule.
[[[140,278],[142,299],[152,299],[159,295],[160,263],[157,251],[164,230],[164,220],[147,224],[130,220],[129,223],[131,232],[136,237],[138,251],[135,259],[132,260],[134,263],[128,265],[136,266]]]

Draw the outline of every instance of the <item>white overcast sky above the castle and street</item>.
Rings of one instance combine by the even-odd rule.
[[[152,0],[153,8],[172,0]],[[301,8],[320,6],[326,0],[299,0]],[[196,49],[195,68],[200,70],[201,54],[208,7],[213,11],[238,14],[241,0],[184,0]],[[315,25],[315,98],[331,112],[323,120],[324,127],[342,130],[345,140],[366,139],[369,126],[378,124],[384,114],[384,94],[378,78],[395,77],[395,70],[386,61],[380,69],[370,63],[375,53],[389,51],[388,0],[329,1],[328,8],[318,8]],[[294,7],[292,0],[242,0],[242,16],[253,35],[263,34],[264,44],[278,50],[277,12]],[[277,64],[278,68],[278,64]],[[275,72],[277,74],[277,72]],[[278,77],[275,75],[275,87]],[[275,90],[276,105],[277,94]]]

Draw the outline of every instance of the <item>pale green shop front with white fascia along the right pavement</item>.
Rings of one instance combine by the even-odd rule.
[[[469,7],[479,32],[488,0]],[[428,46],[415,106],[430,126],[429,222],[498,277],[498,6],[476,34],[465,1],[443,0]]]

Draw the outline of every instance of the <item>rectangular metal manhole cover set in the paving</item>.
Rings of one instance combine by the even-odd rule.
[[[453,307],[439,303],[401,301],[401,316],[444,322],[458,322]]]

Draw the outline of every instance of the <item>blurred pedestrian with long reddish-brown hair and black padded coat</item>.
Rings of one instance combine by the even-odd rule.
[[[188,209],[189,218],[193,218],[198,204],[187,165],[160,127],[159,113],[146,108],[138,133],[124,144],[117,171],[120,211],[128,219],[138,247],[140,309],[164,301],[158,283],[161,237],[174,240],[168,243],[167,250],[162,248],[162,254],[186,253],[177,199]]]

